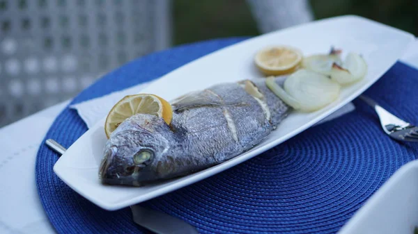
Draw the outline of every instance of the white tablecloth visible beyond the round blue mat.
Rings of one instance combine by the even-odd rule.
[[[418,68],[418,40],[401,61]],[[68,103],[0,128],[0,233],[54,233],[36,190],[35,162],[49,126]]]

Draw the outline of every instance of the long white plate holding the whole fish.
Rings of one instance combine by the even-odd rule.
[[[145,187],[102,185],[98,179],[98,162],[106,142],[104,119],[84,133],[54,166],[54,172],[73,190],[107,210],[117,210],[146,201],[238,165],[249,158],[288,140],[320,121],[375,83],[403,54],[414,36],[396,28],[355,16],[320,20],[302,26],[268,33],[210,53],[163,76],[144,93],[171,100],[189,91],[217,83],[260,77],[253,64],[256,51],[274,44],[300,48],[304,55],[325,53],[331,46],[343,51],[362,53],[369,65],[366,77],[343,88],[337,101],[313,113],[293,112],[261,144],[215,167]],[[344,56],[344,54],[343,54]]]

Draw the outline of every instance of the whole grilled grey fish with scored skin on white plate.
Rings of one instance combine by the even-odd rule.
[[[104,147],[102,183],[141,186],[212,167],[261,142],[289,110],[265,79],[215,85],[171,106],[170,126],[137,114],[116,128]]]

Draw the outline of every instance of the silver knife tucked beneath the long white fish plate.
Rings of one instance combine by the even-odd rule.
[[[51,148],[59,156],[63,155],[67,149],[55,140],[48,139],[45,144]],[[158,210],[151,210],[139,205],[130,207],[134,222],[139,226],[147,228],[157,234],[196,234],[199,233],[196,228],[187,224],[182,219],[178,219],[171,215]]]

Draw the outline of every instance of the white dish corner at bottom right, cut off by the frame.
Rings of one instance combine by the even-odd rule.
[[[339,234],[412,234],[418,226],[418,160],[403,165]]]

